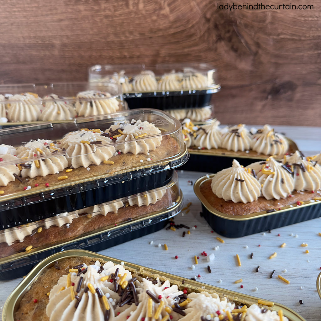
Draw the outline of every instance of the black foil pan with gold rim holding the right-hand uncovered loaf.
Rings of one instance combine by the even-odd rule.
[[[238,238],[250,234],[277,229],[279,227],[312,220],[320,216],[321,201],[312,200],[303,204],[291,204],[273,211],[263,211],[246,215],[228,215],[213,208],[200,192],[200,187],[213,176],[200,177],[194,184],[194,192],[202,203],[202,215],[218,234],[228,238]],[[319,194],[318,194],[319,195]]]

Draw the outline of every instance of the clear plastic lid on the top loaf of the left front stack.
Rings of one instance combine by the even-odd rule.
[[[3,129],[0,204],[28,195],[41,201],[44,192],[60,197],[175,168],[186,153],[178,120],[154,109]]]

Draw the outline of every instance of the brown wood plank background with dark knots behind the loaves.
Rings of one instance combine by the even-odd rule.
[[[231,11],[217,4],[0,0],[0,83],[85,81],[97,63],[207,62],[219,72],[221,123],[321,126],[321,4]]]

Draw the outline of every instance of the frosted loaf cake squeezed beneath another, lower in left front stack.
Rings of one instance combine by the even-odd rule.
[[[95,230],[103,231],[108,227],[114,227],[115,224],[157,213],[172,206],[175,198],[176,193],[171,188],[157,188],[2,230],[0,258],[24,252],[26,249],[54,245],[57,241],[66,242]]]

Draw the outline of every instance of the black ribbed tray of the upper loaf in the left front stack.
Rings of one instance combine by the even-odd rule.
[[[163,187],[170,182],[174,169],[167,169],[156,173],[142,173],[139,171],[125,173],[114,178],[114,184],[97,188],[74,186],[71,194],[63,188],[63,196],[56,197],[56,193],[40,193],[37,196],[23,197],[0,203],[0,230],[39,221],[57,213],[72,212],[93,205],[112,201],[117,198]],[[135,177],[136,175],[136,177]],[[104,181],[104,179],[102,179]],[[96,182],[99,185],[100,182]],[[100,184],[102,185],[102,184]],[[69,188],[67,188],[69,190]],[[33,196],[33,197],[32,197]],[[9,207],[9,209],[5,209]]]

